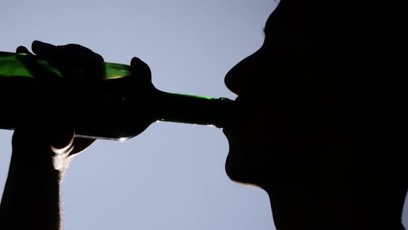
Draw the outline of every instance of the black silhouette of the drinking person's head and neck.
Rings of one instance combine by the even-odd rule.
[[[386,121],[375,85],[389,68],[387,40],[373,36],[381,28],[371,5],[342,4],[280,1],[263,46],[225,76],[239,105],[224,128],[225,170],[268,192],[278,229],[402,227],[408,179],[378,145]]]

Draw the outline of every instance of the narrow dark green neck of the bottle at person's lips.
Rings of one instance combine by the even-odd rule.
[[[156,94],[157,121],[223,127],[233,112],[233,100],[159,91]]]

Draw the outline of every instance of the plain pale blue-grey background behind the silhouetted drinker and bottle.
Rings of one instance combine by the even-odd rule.
[[[1,0],[0,51],[30,48],[35,39],[77,43],[107,62],[129,64],[140,57],[160,90],[233,99],[223,77],[261,46],[275,5],[273,0]],[[1,193],[11,136],[0,130]],[[266,193],[225,175],[227,154],[221,130],[199,125],[154,123],[124,142],[97,141],[64,177],[64,229],[275,229]]]

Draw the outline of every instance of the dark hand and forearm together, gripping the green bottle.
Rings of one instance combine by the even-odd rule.
[[[32,49],[35,55],[58,67],[66,84],[87,84],[102,77],[94,74],[101,72],[102,57],[83,46],[53,46],[33,42]],[[24,46],[19,46],[17,53],[33,55]],[[24,61],[24,64],[30,66],[33,78],[40,82],[57,78],[34,59],[25,58]],[[17,111],[4,110],[27,121],[19,122],[14,127],[12,157],[0,204],[1,229],[61,229],[59,184],[64,170],[73,156],[88,148],[95,139],[74,136],[75,129],[69,116],[63,114],[81,113],[75,103],[67,103],[69,100],[60,103],[58,100],[53,101],[56,103],[48,107],[47,111],[38,111],[35,106],[25,110],[33,114],[51,114],[53,119],[48,122],[46,119],[35,119],[37,116],[33,114],[19,114],[23,105],[12,107]]]

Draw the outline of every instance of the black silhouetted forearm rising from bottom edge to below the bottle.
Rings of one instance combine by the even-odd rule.
[[[35,134],[35,133],[33,133]],[[8,178],[0,204],[1,229],[61,229],[55,153],[28,132],[15,132]]]

